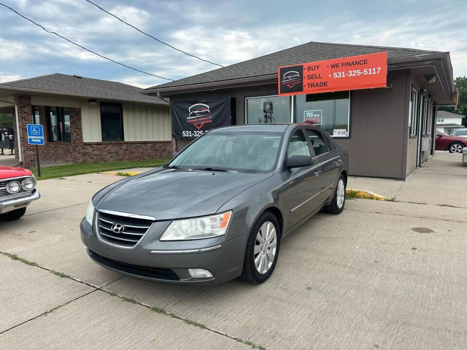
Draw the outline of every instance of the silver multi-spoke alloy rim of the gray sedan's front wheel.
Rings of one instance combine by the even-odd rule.
[[[266,221],[258,230],[254,244],[254,265],[256,271],[265,274],[274,262],[277,248],[277,233],[274,224]]]

